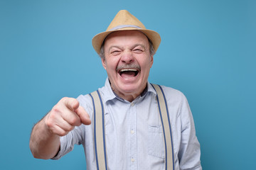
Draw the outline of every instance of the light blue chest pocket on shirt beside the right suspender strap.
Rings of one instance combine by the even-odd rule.
[[[154,157],[164,159],[164,137],[163,128],[159,126],[151,126],[148,128],[149,142],[148,142],[148,154]]]

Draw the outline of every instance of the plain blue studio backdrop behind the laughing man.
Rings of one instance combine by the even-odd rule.
[[[183,92],[203,169],[255,169],[256,1],[0,1],[0,169],[85,169],[82,146],[34,159],[31,128],[103,86],[91,45],[120,9],[160,33],[149,81]]]

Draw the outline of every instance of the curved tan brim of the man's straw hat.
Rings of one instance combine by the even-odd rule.
[[[118,30],[109,30],[109,31],[99,33],[92,38],[92,46],[94,47],[97,54],[100,54],[100,48],[102,46],[103,41],[107,37],[107,35],[109,35],[110,33],[113,33],[116,31],[122,31],[122,30],[139,30],[139,31],[141,31],[142,33],[144,33],[146,35],[147,38],[149,38],[149,40],[151,40],[155,52],[160,45],[161,37],[160,37],[159,33],[156,33],[156,31],[154,31],[154,30],[139,29],[139,28],[121,28]]]

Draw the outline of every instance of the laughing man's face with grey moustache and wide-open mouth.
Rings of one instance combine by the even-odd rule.
[[[134,100],[145,89],[153,64],[148,38],[138,30],[117,31],[107,36],[104,50],[102,65],[112,89],[127,101]]]

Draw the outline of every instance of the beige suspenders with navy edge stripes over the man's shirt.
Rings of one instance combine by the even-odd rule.
[[[174,170],[174,148],[171,135],[171,122],[169,119],[169,112],[167,108],[166,98],[161,86],[151,84],[156,90],[156,98],[159,108],[159,116],[163,127],[164,146],[165,146],[165,169]],[[99,91],[94,91],[90,94],[93,104],[93,125],[94,125],[94,147],[97,170],[108,170],[107,166],[107,152],[105,144],[105,120],[104,120],[104,106],[100,97]]]

